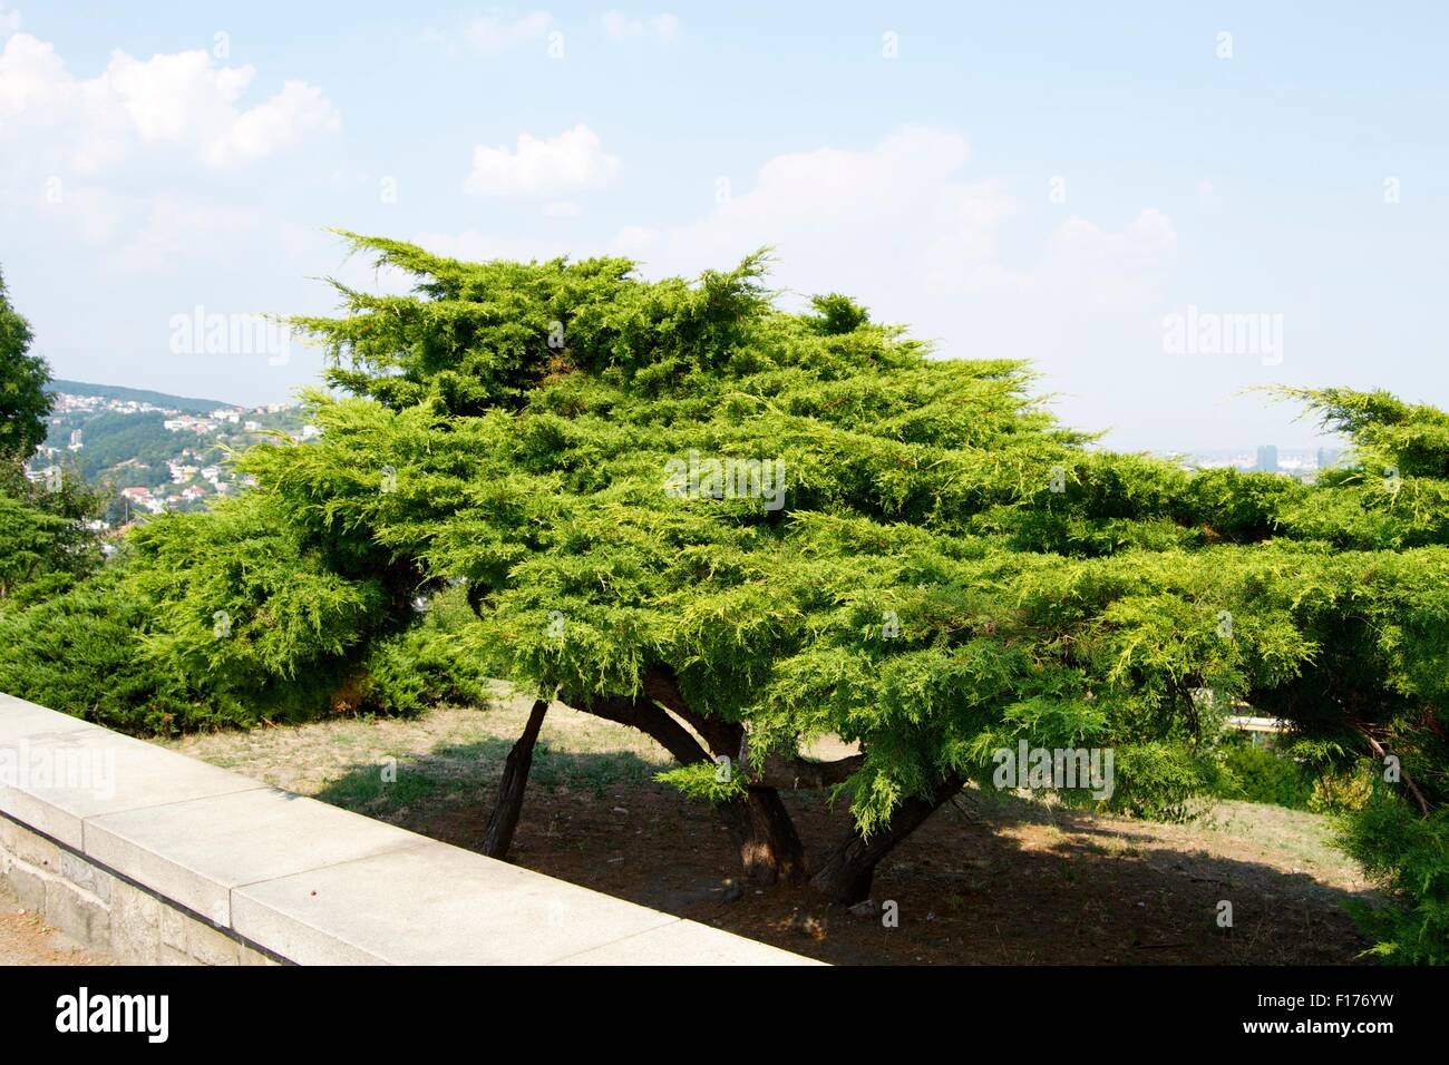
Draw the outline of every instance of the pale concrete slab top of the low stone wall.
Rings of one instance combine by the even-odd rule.
[[[0,694],[0,813],[304,965],[813,965]]]

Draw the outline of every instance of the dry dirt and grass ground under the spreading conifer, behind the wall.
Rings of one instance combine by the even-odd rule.
[[[513,700],[171,746],[477,849],[525,714]],[[1158,824],[966,791],[881,864],[872,898],[898,917],[887,927],[806,890],[730,880],[717,819],[653,781],[668,764],[646,738],[555,706],[510,859],[836,964],[1362,964],[1343,903],[1374,895],[1316,814],[1224,803]],[[823,794],[785,803],[807,851],[848,827]]]

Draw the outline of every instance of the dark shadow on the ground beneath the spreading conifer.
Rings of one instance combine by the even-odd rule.
[[[510,749],[439,745],[390,781],[355,765],[317,798],[478,851]],[[1155,822],[1014,795],[965,793],[938,810],[878,869],[872,894],[894,904],[894,924],[858,916],[807,888],[738,881],[719,817],[655,781],[661,768],[540,739],[509,861],[836,964],[1368,964],[1345,909],[1368,890],[1255,861],[1232,839],[1174,840]],[[849,829],[823,794],[785,804],[811,853]]]

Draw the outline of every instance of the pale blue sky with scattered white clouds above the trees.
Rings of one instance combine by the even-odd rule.
[[[398,287],[327,226],[648,277],[769,243],[784,301],[1033,359],[1113,446],[1303,446],[1242,390],[1449,406],[1446,30],[1429,3],[6,0],[0,268],[57,375],[262,403],[320,356],[178,354],[175,319]]]

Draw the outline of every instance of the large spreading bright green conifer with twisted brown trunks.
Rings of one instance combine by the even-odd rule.
[[[1114,801],[1172,807],[1237,700],[1323,758],[1401,743],[1437,804],[1439,412],[1306,393],[1355,462],[1194,472],[1058,425],[1022,362],[933,359],[838,294],[780,310],[762,255],[646,283],[349,239],[417,287],[297,320],[354,398],[243,467],[356,565],[465,584],[481,668],[652,735],[753,875],[807,866],[777,788],[836,787],[813,882],[862,897],[1019,739],[1110,746]],[[859,753],[801,756],[827,733]]]

